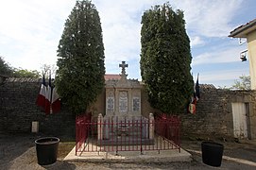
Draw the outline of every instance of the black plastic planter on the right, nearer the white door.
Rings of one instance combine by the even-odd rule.
[[[202,160],[205,164],[211,166],[220,166],[224,150],[223,144],[213,142],[202,142]]]

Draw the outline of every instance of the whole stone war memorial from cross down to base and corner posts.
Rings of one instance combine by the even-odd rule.
[[[101,144],[152,144],[154,117],[142,116],[142,85],[137,79],[127,78],[125,61],[119,66],[121,78],[106,81],[106,115],[98,116],[98,122],[104,122],[98,127],[98,140]]]

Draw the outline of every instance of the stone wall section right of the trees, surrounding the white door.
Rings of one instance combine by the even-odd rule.
[[[200,88],[201,98],[196,105],[196,114],[181,114],[182,135],[205,135],[233,137],[232,102],[247,103],[249,113],[249,138],[255,139],[256,92],[229,91],[204,85]]]

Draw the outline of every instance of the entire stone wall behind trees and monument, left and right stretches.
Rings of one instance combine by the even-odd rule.
[[[32,121],[39,121],[39,130],[50,135],[75,136],[75,116],[61,105],[59,113],[45,115],[36,106],[36,98],[41,82],[39,80],[9,80],[0,85],[0,132],[31,132]],[[219,137],[233,136],[232,102],[248,104],[249,137],[256,139],[256,91],[228,91],[213,86],[200,85],[201,98],[197,102],[196,114],[180,113],[181,135],[207,135]],[[142,114],[158,113],[147,102],[145,88],[142,89]],[[98,113],[105,114],[105,91],[94,106],[94,120]]]

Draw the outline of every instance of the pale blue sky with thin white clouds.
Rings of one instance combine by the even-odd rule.
[[[163,0],[92,0],[100,16],[105,47],[106,74],[120,74],[128,63],[128,78],[141,80],[141,19],[145,10]],[[76,0],[1,0],[0,56],[10,66],[42,71],[56,64],[64,24]],[[247,42],[228,37],[237,26],[256,17],[254,0],[172,0],[174,10],[184,11],[190,38],[191,73],[200,84],[230,87],[239,76],[249,75],[249,60],[240,52]],[[171,73],[170,73],[171,74]]]

